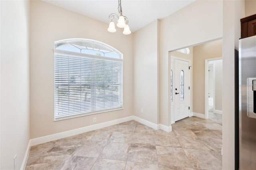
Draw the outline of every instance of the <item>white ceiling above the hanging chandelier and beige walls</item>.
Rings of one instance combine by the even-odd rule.
[[[118,0],[44,0],[50,4],[109,23],[109,14],[118,14]],[[132,32],[156,19],[184,8],[195,0],[122,0],[123,15]],[[118,14],[119,15],[119,14]],[[114,21],[116,22],[116,21]],[[107,28],[106,28],[107,29]]]

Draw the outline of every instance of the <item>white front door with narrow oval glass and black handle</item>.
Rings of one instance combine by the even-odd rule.
[[[189,116],[189,62],[175,59],[175,121]]]

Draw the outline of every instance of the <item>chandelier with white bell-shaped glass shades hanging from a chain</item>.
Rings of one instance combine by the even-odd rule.
[[[125,35],[131,34],[130,28],[128,26],[128,18],[126,16],[123,16],[122,14],[121,0],[118,0],[118,12],[120,16],[118,16],[117,14],[109,15],[108,18],[111,20],[111,22],[109,23],[108,32],[116,32],[115,24],[113,21],[116,18],[117,19],[116,26],[118,26],[119,28],[124,28],[123,34]]]

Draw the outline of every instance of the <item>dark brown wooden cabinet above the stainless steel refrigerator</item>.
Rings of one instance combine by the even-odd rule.
[[[256,14],[242,18],[241,22],[241,38],[256,36]]]

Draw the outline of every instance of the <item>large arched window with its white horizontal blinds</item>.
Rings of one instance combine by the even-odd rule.
[[[88,39],[55,42],[55,120],[122,109],[122,53]]]

